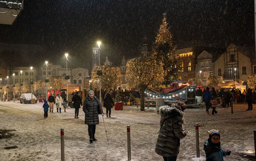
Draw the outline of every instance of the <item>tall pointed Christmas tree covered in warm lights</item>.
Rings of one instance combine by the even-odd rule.
[[[153,56],[158,60],[162,60],[164,65],[164,81],[170,83],[172,78],[177,77],[178,69],[175,64],[177,64],[179,55],[175,53],[176,45],[172,41],[170,27],[168,27],[166,22],[166,14],[163,15],[164,18],[158,30],[156,42],[153,44]]]

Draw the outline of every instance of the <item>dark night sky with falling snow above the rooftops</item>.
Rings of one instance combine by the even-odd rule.
[[[0,42],[41,45],[47,51],[45,60],[62,66],[68,51],[75,66],[88,68],[92,47],[100,39],[102,60],[108,56],[117,65],[122,55],[139,55],[144,35],[149,43],[155,41],[166,12],[178,45],[199,41],[216,47],[251,46],[253,5],[253,0],[24,0],[16,22],[0,25]]]

